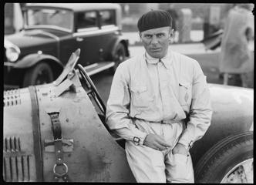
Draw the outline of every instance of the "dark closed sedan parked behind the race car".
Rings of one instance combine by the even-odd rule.
[[[5,36],[5,89],[52,82],[76,48],[89,75],[130,55],[118,4],[27,3],[22,12],[24,28]]]

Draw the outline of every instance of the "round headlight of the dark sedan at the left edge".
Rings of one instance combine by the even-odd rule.
[[[15,62],[19,59],[19,54],[21,53],[19,47],[17,45],[12,44],[8,40],[5,40],[5,55],[8,61]]]

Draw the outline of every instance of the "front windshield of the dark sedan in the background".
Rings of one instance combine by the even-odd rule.
[[[26,12],[26,27],[51,27],[72,30],[71,11],[61,9],[29,9]],[[57,28],[57,29],[58,29]]]

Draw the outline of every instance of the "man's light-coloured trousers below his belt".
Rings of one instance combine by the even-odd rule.
[[[126,158],[136,182],[194,183],[194,169],[190,153],[187,156],[172,153],[182,133],[182,123],[160,124],[136,121],[136,126],[143,132],[162,136],[171,145],[167,150],[159,151],[126,140]]]

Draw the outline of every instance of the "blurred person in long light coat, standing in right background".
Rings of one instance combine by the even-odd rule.
[[[253,87],[254,53],[248,47],[248,42],[254,39],[251,6],[238,4],[227,14],[219,66],[224,73],[224,85],[228,84],[229,74],[237,74],[241,76],[242,86]]]

